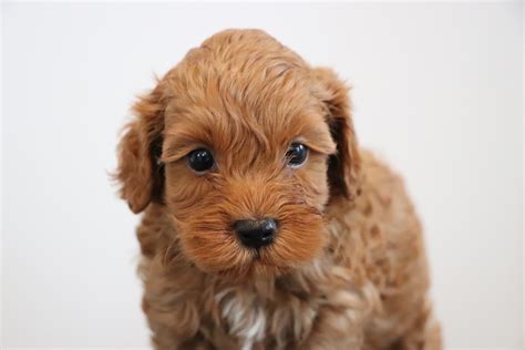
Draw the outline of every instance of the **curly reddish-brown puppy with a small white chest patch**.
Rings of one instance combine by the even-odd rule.
[[[156,349],[441,348],[414,208],[332,71],[227,30],[133,110],[115,176]]]

